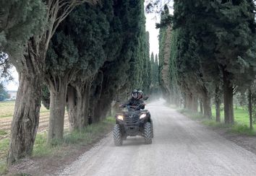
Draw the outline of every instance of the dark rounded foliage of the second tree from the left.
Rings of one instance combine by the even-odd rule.
[[[59,26],[46,58],[46,69],[51,75],[64,76],[69,70],[81,70],[80,76],[83,73],[86,77],[102,66],[106,59],[103,46],[109,34],[109,22],[103,8],[82,4]]]

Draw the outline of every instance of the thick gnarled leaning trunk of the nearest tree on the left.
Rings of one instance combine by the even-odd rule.
[[[18,70],[19,88],[12,120],[8,165],[33,153],[35,136],[38,131],[44,55],[34,51],[33,44],[35,43],[29,44],[23,68],[21,71]]]

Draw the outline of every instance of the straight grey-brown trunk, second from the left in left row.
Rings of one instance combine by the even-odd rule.
[[[64,131],[64,116],[67,97],[67,80],[59,80],[58,87],[50,84],[50,118],[48,128],[48,144],[52,141],[61,140]]]

